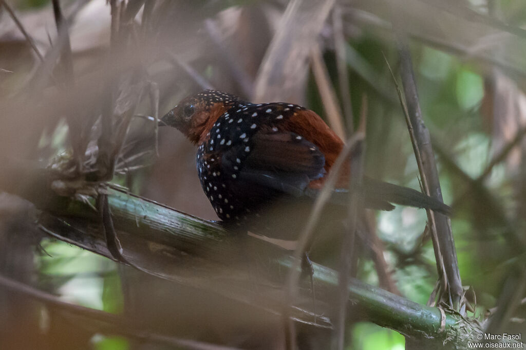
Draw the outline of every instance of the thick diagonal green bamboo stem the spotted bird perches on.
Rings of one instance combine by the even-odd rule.
[[[112,258],[105,237],[97,228],[97,213],[89,203],[55,195],[48,189],[52,179],[46,171],[11,168],[7,173],[18,173],[26,186],[8,189],[0,181],[0,188],[16,191],[37,203],[43,211],[38,223],[43,231]],[[280,314],[285,299],[283,285],[294,263],[285,249],[256,237],[229,234],[217,224],[127,194],[122,189],[108,186],[102,191],[108,195],[123,255],[131,266],[251,306],[264,305],[265,312]],[[93,203],[93,199],[89,201]],[[337,273],[318,264],[313,264],[313,269],[316,314],[331,315],[329,305],[338,290]],[[291,317],[308,326],[331,327],[330,319],[309,311],[308,281],[303,281],[301,287]],[[467,341],[478,330],[476,323],[454,313],[411,302],[357,279],[351,279],[349,284],[347,313],[351,312],[353,318],[359,315],[413,339],[432,339],[430,342],[436,346],[449,342],[457,348],[466,348]]]

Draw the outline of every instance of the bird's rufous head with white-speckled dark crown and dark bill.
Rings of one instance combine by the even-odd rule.
[[[170,109],[159,122],[159,126],[172,126],[185,134],[193,143],[205,138],[217,119],[225,114],[239,97],[220,91],[205,90],[184,98]]]

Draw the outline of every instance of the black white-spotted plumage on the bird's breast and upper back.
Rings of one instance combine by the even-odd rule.
[[[205,194],[222,220],[243,221],[270,205],[291,184],[296,185],[295,181],[301,182],[299,186],[308,183],[309,176],[302,175],[292,180],[287,178],[281,184],[281,177],[276,177],[279,169],[273,168],[272,164],[262,164],[260,168],[266,166],[266,169],[260,171],[255,165],[258,157],[252,153],[256,148],[262,148],[261,142],[258,143],[261,133],[279,133],[283,123],[302,109],[287,103],[237,103],[217,119],[205,142],[199,145],[197,171]],[[298,137],[295,141],[302,139]],[[321,156],[318,162],[316,174],[325,160]],[[285,186],[285,189],[280,186]]]

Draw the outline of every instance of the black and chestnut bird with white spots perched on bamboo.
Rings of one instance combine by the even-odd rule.
[[[254,104],[214,90],[184,98],[159,125],[177,128],[198,146],[201,186],[217,216],[237,226],[257,221],[272,206],[282,216],[279,203],[311,205],[344,146],[323,119],[305,107]],[[350,167],[344,166],[330,205],[348,203],[350,176]],[[411,188],[369,177],[362,186],[363,207],[389,211],[395,203],[450,214],[449,206]]]

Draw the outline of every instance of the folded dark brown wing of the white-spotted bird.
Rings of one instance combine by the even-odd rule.
[[[222,155],[225,168],[238,168],[238,188],[247,191],[301,196],[307,185],[325,175],[325,157],[317,146],[292,132],[260,130],[251,137],[250,153],[245,144],[232,146]],[[245,185],[245,186],[244,186]]]

